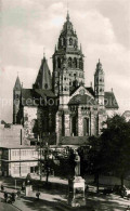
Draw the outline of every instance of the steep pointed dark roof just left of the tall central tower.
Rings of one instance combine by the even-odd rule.
[[[41,66],[35,82],[35,88],[38,89],[46,89],[51,90],[52,89],[52,79],[51,79],[51,72],[47,63],[46,57],[43,57],[41,62]]]

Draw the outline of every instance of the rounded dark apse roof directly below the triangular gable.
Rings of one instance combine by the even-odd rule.
[[[73,98],[70,98],[68,105],[80,105],[80,104],[86,104],[86,105],[95,105],[94,100],[87,95],[87,94],[77,94]]]

